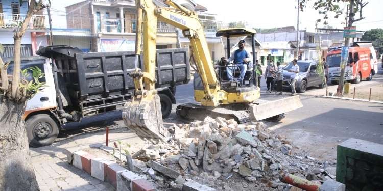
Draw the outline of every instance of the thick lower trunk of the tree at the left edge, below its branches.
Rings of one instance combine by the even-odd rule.
[[[24,105],[0,96],[0,190],[39,190],[21,118]]]

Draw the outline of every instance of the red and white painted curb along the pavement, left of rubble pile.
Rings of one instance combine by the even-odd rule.
[[[71,153],[68,162],[94,178],[109,182],[117,191],[155,190],[150,182],[114,161],[97,158],[82,150]]]

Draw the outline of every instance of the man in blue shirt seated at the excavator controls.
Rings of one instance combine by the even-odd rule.
[[[237,50],[235,50],[232,54],[231,54],[231,57],[229,59],[227,59],[227,62],[231,62],[231,61],[234,61],[234,64],[236,64],[238,66],[238,68],[240,68],[240,76],[238,76],[238,84],[242,84],[243,80],[244,80],[244,77],[245,77],[245,73],[246,73],[246,70],[247,70],[247,64],[246,62],[249,62],[250,61],[250,53],[245,50],[245,45],[246,45],[246,42],[244,40],[240,40],[240,42],[238,42],[238,48]],[[233,71],[236,70],[237,67],[227,67],[227,70],[226,70],[226,74],[227,74],[227,78],[232,81],[233,80]]]

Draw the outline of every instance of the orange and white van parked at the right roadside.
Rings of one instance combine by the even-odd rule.
[[[337,84],[341,75],[341,52],[342,48],[336,48],[327,53],[328,80],[331,84]],[[372,76],[378,72],[378,64],[375,49],[371,42],[354,42],[348,49],[348,61],[345,69],[345,80],[354,84],[362,79],[372,80]]]

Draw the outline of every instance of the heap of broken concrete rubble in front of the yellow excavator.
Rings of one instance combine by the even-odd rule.
[[[288,185],[279,181],[281,172],[311,180],[324,180],[328,175],[325,163],[302,153],[293,155],[291,143],[268,131],[262,122],[244,125],[233,119],[206,117],[174,125],[170,131],[169,143],[149,146],[132,157],[147,162],[147,174],[154,169],[170,177],[174,180],[170,186],[176,190],[189,178],[214,186],[220,177],[227,180],[240,175],[283,190]]]

